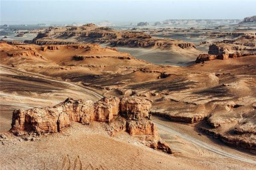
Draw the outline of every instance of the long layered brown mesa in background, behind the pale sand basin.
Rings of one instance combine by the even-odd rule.
[[[163,40],[151,37],[142,31],[119,31],[108,27],[98,27],[94,24],[81,27],[49,27],[44,32],[39,32],[38,36],[31,42],[26,42],[35,43],[36,45],[73,44],[73,41],[66,40],[68,38],[74,38],[77,42],[110,43],[113,46],[159,48],[163,50],[195,48],[195,44],[191,42]]]

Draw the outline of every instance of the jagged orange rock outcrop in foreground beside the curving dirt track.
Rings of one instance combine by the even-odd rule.
[[[148,147],[172,153],[150,119],[150,108],[149,100],[137,97],[105,97],[97,102],[68,98],[55,106],[13,111],[10,131],[16,135],[30,132],[55,133],[69,127],[72,122],[83,125],[89,125],[93,121],[107,122],[115,132],[126,131],[140,140],[143,139]]]

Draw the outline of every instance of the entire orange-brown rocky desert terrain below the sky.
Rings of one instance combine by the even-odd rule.
[[[0,28],[1,170],[255,170],[256,16]]]

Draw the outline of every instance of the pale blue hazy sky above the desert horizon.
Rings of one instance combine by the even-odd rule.
[[[1,24],[243,19],[256,0],[0,0]]]

